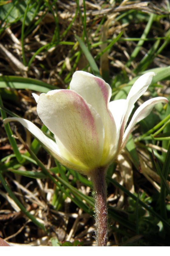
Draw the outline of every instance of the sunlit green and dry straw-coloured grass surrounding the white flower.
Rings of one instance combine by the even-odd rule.
[[[105,4],[97,1],[98,5],[82,1],[79,6],[79,1],[67,1],[64,5],[57,1],[27,0],[19,1],[20,4],[23,2],[23,8],[17,12],[18,1],[1,2],[4,12],[0,11],[0,36],[1,44],[6,49],[0,59],[1,121],[6,116],[25,117],[53,137],[36,115],[31,92],[65,89],[76,70],[107,77],[112,88],[112,100],[125,99],[141,74],[154,71],[156,76],[152,85],[137,104],[156,96],[169,98],[170,61],[166,53],[170,41],[170,21],[166,10],[154,14],[150,9],[142,12],[139,7],[129,10],[126,9],[127,1],[112,1],[113,5],[107,1]],[[133,2],[135,5],[136,1]],[[120,12],[103,12],[119,6],[124,6]],[[95,15],[97,11],[101,12]],[[16,66],[13,57],[21,66]],[[27,70],[22,65],[28,67]],[[128,160],[124,159],[123,163],[115,161],[109,167],[109,245],[170,245],[170,134],[166,133],[169,132],[169,115],[169,105],[157,106],[133,131],[125,150]],[[48,235],[50,244],[54,226],[61,228],[56,219],[62,216],[65,236],[62,240],[55,233],[55,242],[61,245],[69,237],[71,242],[80,238],[84,240],[84,245],[92,245],[94,234],[90,227],[93,227],[94,202],[91,181],[54,161],[24,130],[19,133],[24,141],[30,141],[29,147],[22,147],[24,142],[16,138],[12,124],[3,125],[2,129],[1,147],[9,150],[3,151],[0,161],[1,190],[6,190],[27,219],[36,225],[31,225],[31,230],[35,227],[46,230],[42,236]],[[131,166],[129,172],[133,172],[128,181],[126,175],[129,173],[122,172],[123,164]],[[43,201],[44,208],[37,204],[33,212],[27,211],[27,207],[35,202],[28,199],[24,192],[21,195],[10,178],[21,179],[24,184],[32,182],[30,192],[38,191],[36,197]],[[128,182],[132,185],[130,191]],[[16,211],[10,202],[4,201],[7,199],[2,193],[0,198],[3,202],[1,210],[11,207],[11,211]],[[8,204],[7,208],[4,202]],[[74,225],[74,214],[79,218],[78,228]],[[17,227],[14,229],[17,232]],[[9,232],[12,232],[11,229]],[[9,232],[6,236],[12,235]],[[29,244],[32,232],[25,241],[19,242],[16,236],[17,243]],[[137,239],[137,235],[141,236]],[[38,236],[35,238],[38,239]],[[11,239],[7,241],[12,242]],[[55,244],[54,240],[52,244]]]

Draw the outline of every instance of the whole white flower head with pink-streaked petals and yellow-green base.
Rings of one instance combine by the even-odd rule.
[[[55,141],[26,119],[12,117],[4,122],[19,121],[61,164],[88,173],[111,164],[134,125],[149,115],[155,104],[168,102],[164,97],[144,102],[125,129],[134,103],[147,90],[153,76],[154,72],[149,72],[139,77],[126,100],[110,103],[109,84],[84,71],[74,73],[70,90],[53,90],[40,96],[33,93],[37,113]]]

